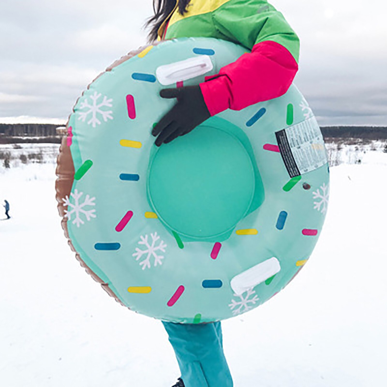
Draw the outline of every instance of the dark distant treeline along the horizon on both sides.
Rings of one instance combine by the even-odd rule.
[[[16,142],[10,141],[10,137],[45,137],[43,142],[58,142],[55,136],[63,135],[63,132],[57,129],[58,125],[51,124],[0,123],[0,143]],[[325,138],[387,140],[387,127],[382,126],[325,126],[321,127],[321,131]]]

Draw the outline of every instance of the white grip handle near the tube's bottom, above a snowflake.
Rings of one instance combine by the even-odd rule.
[[[273,257],[251,267],[231,279],[231,288],[238,296],[245,291],[271,278],[281,270],[277,258]]]

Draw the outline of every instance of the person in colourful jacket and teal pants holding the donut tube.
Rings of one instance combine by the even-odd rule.
[[[149,40],[210,37],[248,52],[198,86],[163,89],[176,104],[153,128],[156,146],[194,130],[224,110],[242,110],[285,94],[298,71],[300,42],[283,15],[266,0],[154,0]],[[221,323],[163,322],[181,378],[174,387],[233,385],[223,353]]]

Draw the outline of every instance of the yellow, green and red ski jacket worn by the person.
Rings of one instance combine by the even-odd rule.
[[[158,36],[218,38],[251,50],[200,84],[211,115],[285,94],[298,71],[299,39],[267,0],[192,0],[184,15],[177,1]]]

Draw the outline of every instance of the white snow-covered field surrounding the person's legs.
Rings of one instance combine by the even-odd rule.
[[[325,228],[296,280],[223,323],[236,387],[386,385],[387,154],[362,158],[331,169]],[[53,163],[0,167],[12,215],[0,220],[0,385],[170,387],[180,375],[161,323],[79,266],[54,183]]]

